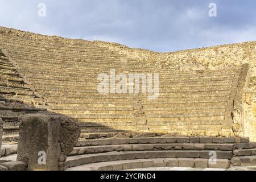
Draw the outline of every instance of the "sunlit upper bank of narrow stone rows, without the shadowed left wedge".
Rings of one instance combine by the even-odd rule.
[[[126,63],[122,61],[125,55],[86,42],[72,46],[11,36],[0,40],[15,66],[35,86],[35,93],[47,102],[48,111],[77,119],[84,133],[126,130],[230,135],[230,128],[223,130],[222,125],[231,114],[227,107],[238,69],[180,72],[131,59]],[[159,73],[159,98],[150,101],[146,94],[97,93],[98,75],[110,75],[110,69],[116,73]]]

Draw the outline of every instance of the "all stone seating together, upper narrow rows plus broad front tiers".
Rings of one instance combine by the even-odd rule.
[[[210,151],[217,153],[217,167],[254,163],[255,143],[230,138],[241,66],[180,71],[175,65],[160,68],[127,59],[84,40],[0,31],[5,141],[17,139],[24,114],[61,114],[76,119],[82,131],[67,169],[213,167],[208,163]],[[127,76],[158,73],[159,97],[98,93],[98,75],[110,76],[111,69]]]

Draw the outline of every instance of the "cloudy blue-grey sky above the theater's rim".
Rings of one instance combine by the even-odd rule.
[[[45,3],[46,17],[38,16]],[[216,3],[217,17],[210,17]],[[158,52],[256,40],[256,1],[0,0],[0,26]]]

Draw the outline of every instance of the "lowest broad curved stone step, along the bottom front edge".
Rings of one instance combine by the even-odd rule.
[[[189,167],[189,168],[229,168],[228,159],[217,159],[216,164],[209,159],[193,158],[159,158],[159,159],[133,159],[118,160],[84,164],[67,168],[67,171],[121,171],[129,169],[152,168],[152,167]]]

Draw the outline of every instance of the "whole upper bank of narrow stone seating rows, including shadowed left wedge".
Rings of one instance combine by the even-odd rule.
[[[232,112],[241,66],[218,71],[158,68],[88,41],[8,28],[1,28],[0,49],[4,140],[15,139],[18,117],[27,113],[74,118],[81,125],[81,138],[87,139],[119,133],[234,135]],[[154,78],[157,73],[158,97],[150,100],[152,94],[142,93],[147,87],[142,81],[139,93],[99,93],[98,76],[108,75],[110,86],[113,70],[115,76],[127,77],[137,73]]]

